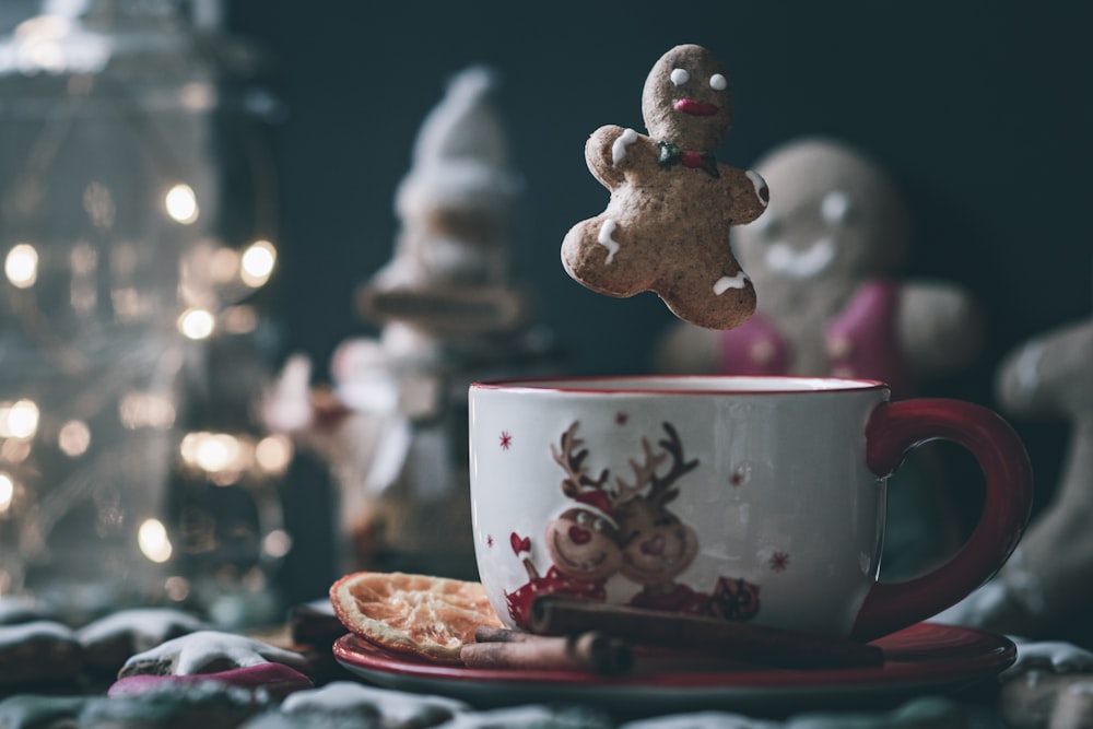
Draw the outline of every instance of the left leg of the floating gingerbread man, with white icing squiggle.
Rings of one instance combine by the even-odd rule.
[[[648,291],[656,261],[630,234],[628,222],[599,215],[574,225],[562,240],[562,264],[577,282],[609,296]]]

